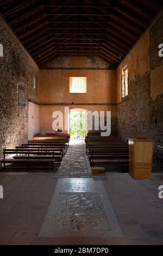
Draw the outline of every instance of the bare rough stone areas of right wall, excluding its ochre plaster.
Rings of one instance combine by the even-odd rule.
[[[149,132],[155,145],[163,144],[163,94],[156,99],[151,96],[151,72],[163,64],[163,57],[158,56],[158,45],[163,43],[162,23],[163,14],[149,31],[150,70],[129,82],[128,96],[118,105],[118,134],[126,141],[134,130],[140,130]]]

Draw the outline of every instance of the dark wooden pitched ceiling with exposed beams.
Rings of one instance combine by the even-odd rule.
[[[97,55],[116,68],[161,2],[6,0],[0,11],[39,66],[58,56]]]

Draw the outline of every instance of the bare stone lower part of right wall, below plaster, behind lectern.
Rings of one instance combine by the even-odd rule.
[[[133,137],[134,130],[149,131],[151,111],[150,74],[129,83],[128,97],[118,104],[117,129],[121,138]]]

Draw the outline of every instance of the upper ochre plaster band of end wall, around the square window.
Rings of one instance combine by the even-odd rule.
[[[70,77],[86,77],[85,94],[71,94]],[[40,70],[40,103],[115,103],[115,70]]]

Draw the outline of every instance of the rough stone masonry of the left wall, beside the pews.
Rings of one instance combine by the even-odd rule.
[[[0,16],[0,155],[28,138],[28,100],[37,103],[39,68]],[[36,89],[34,81],[36,81]]]

